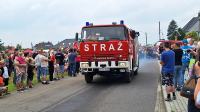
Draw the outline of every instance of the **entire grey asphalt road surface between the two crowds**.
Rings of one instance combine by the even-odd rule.
[[[0,112],[153,112],[159,66],[157,60],[142,60],[140,65],[131,83],[95,77],[86,84],[78,76],[14,92],[0,98]]]

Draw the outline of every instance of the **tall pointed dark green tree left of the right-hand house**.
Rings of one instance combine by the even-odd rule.
[[[169,40],[175,40],[175,32],[177,31],[177,24],[176,24],[176,21],[172,20],[170,23],[169,23],[169,26],[168,26],[168,29],[167,29],[167,38]]]

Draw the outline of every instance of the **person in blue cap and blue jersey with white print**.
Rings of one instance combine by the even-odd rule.
[[[190,50],[192,49],[191,46],[188,46],[188,41],[186,39],[183,40],[183,46],[181,46],[181,49],[183,50],[183,56],[182,56],[182,75],[181,75],[181,83],[180,86],[182,87],[184,84],[185,79],[185,71],[186,69],[189,72],[189,62],[190,62]]]

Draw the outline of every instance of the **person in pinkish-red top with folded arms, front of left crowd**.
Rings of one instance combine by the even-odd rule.
[[[20,52],[17,57],[15,57],[14,61],[15,69],[16,69],[16,87],[17,91],[23,92],[25,89],[24,80],[26,75],[26,61],[23,57],[23,53]]]

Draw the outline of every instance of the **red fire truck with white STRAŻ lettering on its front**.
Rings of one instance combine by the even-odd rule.
[[[117,75],[130,82],[139,68],[138,36],[139,32],[129,29],[123,21],[110,25],[87,22],[79,41],[80,69],[85,81],[91,83],[94,75]]]

